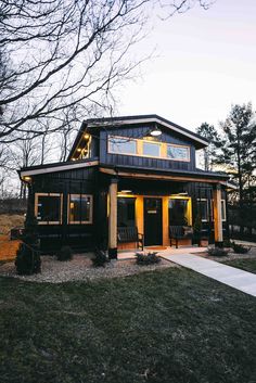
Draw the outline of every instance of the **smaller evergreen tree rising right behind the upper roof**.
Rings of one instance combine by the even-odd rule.
[[[206,138],[208,141],[208,146],[203,149],[204,169],[206,171],[213,170],[213,165],[216,158],[216,150],[221,145],[220,137],[215,127],[207,123],[201,124],[201,126],[196,129],[196,133]]]

